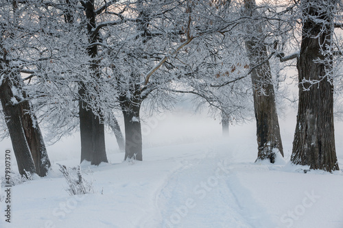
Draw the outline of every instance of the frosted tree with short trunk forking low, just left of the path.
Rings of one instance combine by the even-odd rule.
[[[182,13],[182,8],[178,8],[180,5],[181,1],[143,0],[127,5],[131,19],[125,26],[130,26],[131,29],[117,55],[123,62],[112,66],[125,123],[125,159],[143,159],[140,116],[142,102],[150,94],[161,92],[161,85],[171,81],[165,77],[165,72],[165,75],[160,73],[147,83],[148,81],[143,81],[145,75],[142,73],[154,66],[154,62],[161,58],[161,53],[170,49],[168,45],[173,45],[171,42],[177,42],[174,39],[178,39],[180,28],[176,21],[176,11]]]

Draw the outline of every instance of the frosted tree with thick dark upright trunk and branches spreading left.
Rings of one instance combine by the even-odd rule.
[[[99,8],[95,1],[41,2],[44,15],[40,23],[45,29],[38,42],[45,61],[32,66],[32,75],[27,77],[51,141],[71,134],[79,125],[81,162],[95,165],[107,162],[104,112],[95,101],[102,84],[98,46],[94,45],[99,41],[99,27],[95,27],[97,18],[114,2]],[[111,118],[112,125],[114,116]]]

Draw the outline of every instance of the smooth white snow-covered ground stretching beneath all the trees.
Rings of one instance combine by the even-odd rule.
[[[80,142],[78,134],[64,139],[48,147],[48,177],[12,187],[10,224],[1,202],[0,227],[343,227],[343,173],[288,163],[294,112],[281,120],[285,161],[273,165],[255,163],[255,123],[230,127],[223,140],[219,122],[187,113],[147,119],[143,162],[123,162],[108,136],[110,164],[82,164],[94,193],[73,197],[57,164],[77,166]],[[342,123],[335,129],[343,168]],[[10,146],[0,142],[1,177]],[[12,155],[16,171],[15,163]]]

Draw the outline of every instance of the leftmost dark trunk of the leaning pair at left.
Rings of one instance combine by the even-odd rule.
[[[14,98],[12,86],[10,79],[5,77],[0,86],[0,99],[19,173],[26,176],[26,172],[36,173],[36,168],[23,129],[21,105],[12,102]]]

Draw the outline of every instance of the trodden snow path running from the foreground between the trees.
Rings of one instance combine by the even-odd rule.
[[[232,153],[211,146],[169,175],[156,195],[156,216],[143,227],[275,227],[251,196],[242,196]]]

